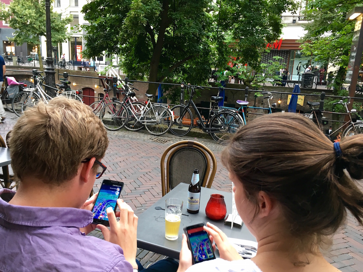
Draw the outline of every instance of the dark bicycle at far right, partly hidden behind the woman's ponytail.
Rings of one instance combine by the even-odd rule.
[[[347,102],[343,102],[343,99],[347,99]],[[363,121],[356,121],[354,122],[352,120],[351,114],[355,113],[357,110],[352,109],[351,111],[348,110],[347,105],[350,103],[350,96],[344,96],[342,98],[342,100],[340,100],[339,102],[333,103],[333,105],[336,104],[342,104],[345,107],[346,110],[346,114],[348,114],[349,116],[349,121],[347,121],[346,123],[344,123],[343,125],[341,125],[338,129],[336,129],[335,131],[332,131],[330,134],[325,134],[325,136],[327,136],[330,140],[331,140],[331,136],[333,134],[335,134],[337,131],[339,131],[339,129],[343,128],[345,125],[348,125],[348,127],[346,127],[346,129],[344,129],[342,136],[351,136],[351,135],[356,135],[356,134],[362,134],[363,133]],[[310,102],[308,101],[307,104],[312,107],[311,113],[308,114],[303,114],[304,116],[306,116],[309,119],[312,119],[314,121],[315,124],[317,124],[318,128],[321,130],[320,127],[320,120],[321,117],[323,116],[323,113],[320,109],[314,109],[314,106],[319,106],[320,103],[319,102]]]

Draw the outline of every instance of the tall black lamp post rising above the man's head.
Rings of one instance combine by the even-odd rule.
[[[56,78],[54,71],[54,60],[52,57],[52,33],[50,31],[50,0],[45,0],[45,20],[46,20],[46,59],[45,59],[45,84],[53,88],[56,87]],[[55,91],[52,88],[45,88],[48,94],[55,96]]]

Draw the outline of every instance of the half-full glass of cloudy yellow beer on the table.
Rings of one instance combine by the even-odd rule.
[[[178,239],[182,209],[183,200],[179,198],[165,201],[165,238],[168,240]]]

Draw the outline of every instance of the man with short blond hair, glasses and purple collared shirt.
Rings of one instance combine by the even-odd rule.
[[[106,129],[86,104],[47,103],[24,111],[9,139],[19,188],[0,189],[0,270],[175,272],[171,258],[146,269],[136,260],[138,217],[122,199],[120,212],[106,209],[109,228],[93,224],[97,194],[87,198],[107,169]],[[95,228],[104,240],[87,236]]]

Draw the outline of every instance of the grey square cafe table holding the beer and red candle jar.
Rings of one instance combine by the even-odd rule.
[[[244,224],[242,225],[242,228],[233,227],[231,229],[231,226],[224,224],[225,218],[219,221],[213,221],[205,215],[205,206],[207,206],[211,194],[215,193],[224,195],[224,201],[227,206],[227,215],[232,213],[232,193],[201,187],[199,213],[189,214],[187,212],[188,186],[189,184],[179,184],[160,198],[154,205],[138,215],[137,246],[139,248],[179,259],[182,234],[184,233],[183,228],[202,222],[215,224],[228,237],[256,242],[256,238],[254,238]],[[157,206],[165,209],[165,200],[168,198],[179,198],[183,200],[182,213],[189,215],[181,215],[179,238],[174,241],[165,238],[165,211],[155,209]],[[216,257],[219,257],[217,251]]]

